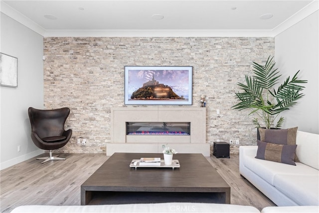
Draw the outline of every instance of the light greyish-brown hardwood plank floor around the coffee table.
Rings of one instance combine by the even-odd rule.
[[[43,154],[38,157],[47,156]],[[65,161],[29,159],[0,171],[0,211],[22,205],[80,205],[80,186],[107,159],[105,154],[60,154]],[[261,210],[275,206],[248,181],[240,177],[239,156],[208,157],[207,160],[231,187],[231,204]]]

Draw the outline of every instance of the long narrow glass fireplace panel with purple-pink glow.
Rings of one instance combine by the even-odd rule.
[[[190,122],[126,122],[127,135],[190,135]]]

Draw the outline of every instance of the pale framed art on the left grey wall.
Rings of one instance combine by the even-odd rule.
[[[0,85],[17,87],[18,59],[16,57],[0,53]]]

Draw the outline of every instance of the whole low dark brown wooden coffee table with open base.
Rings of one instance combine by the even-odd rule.
[[[130,168],[152,153],[114,153],[81,185],[81,205],[193,202],[230,204],[230,187],[202,154],[175,154],[180,168]]]

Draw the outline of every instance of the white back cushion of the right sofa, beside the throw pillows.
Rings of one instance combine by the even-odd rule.
[[[319,170],[319,135],[298,131],[296,143],[299,161]]]

